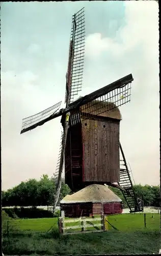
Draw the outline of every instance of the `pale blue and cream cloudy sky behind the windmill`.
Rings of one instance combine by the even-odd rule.
[[[136,184],[159,184],[156,1],[1,4],[2,189],[55,173],[60,118],[20,135],[22,118],[65,98],[72,15],[85,7],[84,96],[128,74],[120,142]]]

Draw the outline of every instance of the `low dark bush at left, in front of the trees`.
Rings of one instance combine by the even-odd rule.
[[[10,218],[13,219],[37,219],[37,218],[53,218],[51,211],[44,209],[37,209],[36,207],[31,208],[4,208],[3,209]]]

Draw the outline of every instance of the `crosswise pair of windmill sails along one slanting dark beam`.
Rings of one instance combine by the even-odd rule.
[[[104,97],[104,99],[106,99],[106,100],[104,100],[105,103],[107,103],[108,100],[110,100],[110,98],[112,98],[113,101],[119,105],[125,104],[126,102],[128,102],[130,100],[130,88],[131,87],[128,86],[128,84],[131,83],[132,81],[133,81],[132,75],[131,74],[127,75],[127,76],[109,84],[108,86],[105,86],[93,93],[90,93],[90,94],[82,97],[81,99],[77,99],[74,102],[71,102],[66,109],[62,109],[59,112],[58,112],[58,109],[61,105],[61,102],[53,105],[51,108],[48,108],[34,116],[24,118],[23,122],[22,122],[21,133],[25,133],[27,131],[35,129],[37,126],[42,125],[45,122],[48,122],[49,120],[52,120],[59,116],[66,115],[67,113],[69,113],[71,111],[74,112],[74,113],[72,113],[71,120],[72,119],[75,120],[76,119],[75,116],[79,117],[78,120],[75,120],[75,123],[72,123],[72,125],[73,125],[73,124],[76,124],[77,122],[81,122],[80,118],[81,118],[82,113],[85,117],[87,115],[87,118],[92,118],[92,115],[94,115],[94,114],[98,115],[98,113],[100,114],[105,111],[111,110],[109,108],[109,106],[106,106],[106,108],[98,106],[95,110],[93,110],[95,112],[94,114],[93,113],[87,114],[87,112],[85,112],[85,110],[87,108],[89,108],[90,104],[91,105],[94,104],[94,103],[92,103],[92,101],[97,100],[97,103],[98,103],[98,99],[101,99],[101,101],[103,102],[103,97]],[[109,93],[111,93],[111,95],[113,95],[113,97],[111,97],[111,95]],[[84,112],[82,110],[80,111],[80,107],[82,108],[82,110],[85,109]],[[51,112],[51,110],[53,111],[53,109],[56,109],[56,111]]]

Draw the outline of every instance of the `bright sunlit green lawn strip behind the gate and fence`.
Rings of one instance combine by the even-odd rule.
[[[160,228],[159,214],[146,214],[146,228],[144,227],[144,214],[111,215],[108,221],[120,231],[159,230]],[[17,219],[13,220],[13,223],[18,224],[21,230],[48,231],[51,227],[58,228],[58,218]],[[81,221],[66,223],[66,226],[69,225],[81,225]],[[113,227],[109,225],[109,229]]]

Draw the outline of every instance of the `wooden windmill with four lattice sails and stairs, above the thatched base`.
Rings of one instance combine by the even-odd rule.
[[[68,70],[66,74],[66,107],[65,109],[59,110],[61,102],[58,102],[36,115],[24,118],[22,120],[21,134],[33,130],[37,126],[43,125],[45,122],[54,118],[62,117],[61,123],[63,132],[55,173],[57,186],[53,211],[55,211],[59,200],[64,156],[65,181],[73,191],[93,183],[106,183],[122,190],[131,212],[141,211],[143,208],[138,204],[137,197],[133,191],[128,167],[119,142],[119,122],[121,120],[121,114],[119,114],[118,106],[130,101],[130,85],[133,81],[133,77],[129,74],[108,86],[74,101],[74,96],[82,90],[84,54],[85,13],[83,8],[72,16]],[[110,130],[106,128],[106,125]],[[117,132],[111,131],[112,126],[114,126],[114,130],[117,130]],[[101,128],[99,129],[99,127]],[[104,141],[106,141],[107,137],[110,139],[113,134],[116,135],[113,140],[115,142],[112,142],[115,149],[111,153],[111,158],[109,146],[106,144],[104,144],[104,150],[100,147],[98,152],[98,146],[101,145],[100,141],[102,138],[100,136],[100,130],[103,136],[105,136]],[[92,137],[90,142],[88,141],[88,143],[86,143],[87,138],[89,139],[91,136],[91,131],[95,134],[94,138]],[[112,132],[111,136],[109,136],[110,131]],[[97,143],[93,141],[97,141]],[[94,154],[91,153],[93,154],[92,157],[94,156],[98,159],[100,154],[103,155],[104,152],[107,151],[105,156],[108,155],[109,159],[105,157],[105,164],[112,163],[111,165],[107,164],[105,167],[104,163],[98,163],[98,165],[95,165],[97,167],[93,167],[92,164],[95,160],[88,165],[90,161],[85,158],[90,154],[89,147],[93,146],[92,143],[97,147],[95,148]],[[110,142],[108,145],[110,145]],[[123,160],[119,159],[119,150],[121,151]],[[112,160],[112,158],[115,159]],[[123,161],[125,168],[120,168],[120,161]],[[95,174],[89,173],[91,169],[95,170]]]

